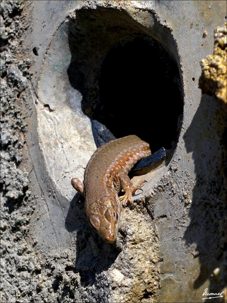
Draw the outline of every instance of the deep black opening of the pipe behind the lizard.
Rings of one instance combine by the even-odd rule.
[[[105,57],[93,118],[116,138],[135,134],[150,143],[152,152],[170,149],[181,127],[180,90],[175,61],[150,37],[136,37]]]

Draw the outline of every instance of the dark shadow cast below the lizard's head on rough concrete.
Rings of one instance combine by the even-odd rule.
[[[119,251],[106,243],[90,225],[84,212],[84,198],[71,200],[65,219],[65,228],[76,238],[75,270],[80,273],[81,283],[92,285],[96,275],[106,271],[114,263]],[[75,233],[74,233],[75,232]]]

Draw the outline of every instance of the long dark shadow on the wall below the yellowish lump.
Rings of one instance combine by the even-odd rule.
[[[200,105],[184,135],[192,152],[196,184],[189,210],[191,222],[186,244],[196,243],[192,252],[201,263],[194,288],[210,280],[209,292],[222,291],[226,270],[226,113],[216,99],[202,95]],[[213,272],[220,268],[218,275]]]

